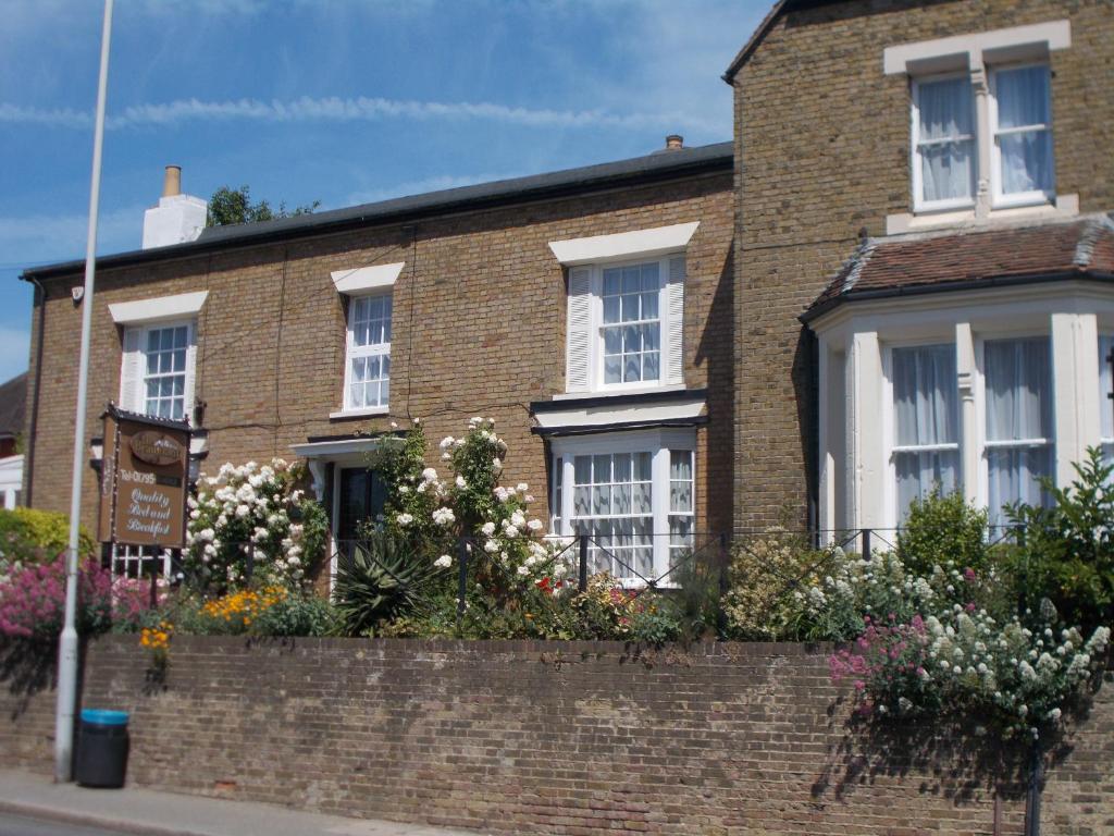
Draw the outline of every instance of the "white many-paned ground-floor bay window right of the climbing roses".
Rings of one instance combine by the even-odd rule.
[[[589,537],[589,572],[671,582],[693,545],[694,443],[664,429],[554,439],[554,534]]]

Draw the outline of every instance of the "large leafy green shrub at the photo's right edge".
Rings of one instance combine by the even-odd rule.
[[[1046,479],[1049,507],[1017,505],[1010,518],[1025,526],[1013,565],[1023,609],[1047,597],[1084,633],[1114,624],[1114,465],[1091,448],[1065,488]]]

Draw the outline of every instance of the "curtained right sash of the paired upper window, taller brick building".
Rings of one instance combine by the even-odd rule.
[[[1052,121],[1048,113],[1048,68],[1022,67],[995,76],[1003,194],[1052,188]],[[1030,130],[1018,130],[1032,128]]]

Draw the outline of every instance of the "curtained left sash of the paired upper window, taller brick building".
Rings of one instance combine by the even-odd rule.
[[[918,144],[925,201],[975,194],[971,86],[966,78],[918,85]]]

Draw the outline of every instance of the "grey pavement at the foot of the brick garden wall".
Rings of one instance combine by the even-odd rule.
[[[4,813],[139,836],[477,836],[152,789],[85,789],[13,769],[0,769],[0,816]]]

